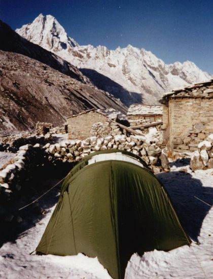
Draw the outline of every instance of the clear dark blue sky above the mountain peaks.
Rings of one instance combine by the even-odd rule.
[[[13,29],[51,14],[80,45],[128,44],[213,74],[213,0],[0,0]]]

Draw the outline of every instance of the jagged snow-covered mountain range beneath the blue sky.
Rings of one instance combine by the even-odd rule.
[[[80,46],[51,15],[40,14],[16,32],[74,64],[98,88],[109,91],[127,105],[156,103],[166,91],[212,78],[193,62],[165,64],[152,52],[131,45],[116,50]]]

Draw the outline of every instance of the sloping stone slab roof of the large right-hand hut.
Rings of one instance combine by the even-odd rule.
[[[195,83],[193,85],[184,87],[182,89],[174,89],[170,92],[164,93],[159,100],[164,103],[169,98],[212,98],[213,97],[213,79],[205,82]]]

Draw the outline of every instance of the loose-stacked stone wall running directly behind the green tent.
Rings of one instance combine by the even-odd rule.
[[[108,135],[98,138],[91,136],[85,140],[68,140],[61,144],[46,144],[46,156],[51,162],[78,162],[88,154],[107,149],[121,149],[140,156],[157,173],[169,168],[165,153],[161,149],[162,133],[151,128],[147,135],[124,134]]]

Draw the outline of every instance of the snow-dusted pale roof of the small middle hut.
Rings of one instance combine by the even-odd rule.
[[[162,105],[158,104],[131,104],[128,109],[127,116],[129,115],[162,115]]]

